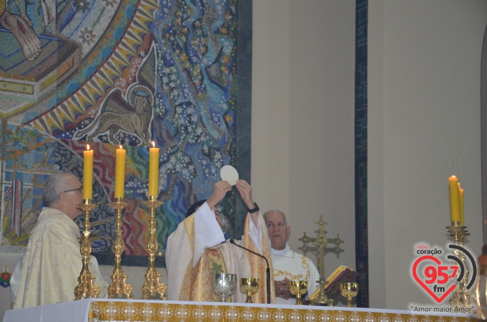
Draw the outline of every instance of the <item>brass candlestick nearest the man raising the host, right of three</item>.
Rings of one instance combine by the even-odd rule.
[[[155,296],[159,293],[161,299],[165,300],[164,292],[166,292],[167,286],[161,283],[159,280],[162,275],[156,269],[154,260],[156,259],[157,253],[157,238],[156,238],[156,208],[159,207],[163,202],[157,201],[157,196],[149,196],[148,201],[143,201],[143,204],[151,209],[151,223],[149,227],[149,239],[147,240],[147,253],[149,254],[149,267],[147,268],[147,273],[144,275],[146,282],[142,285],[142,299],[147,300],[149,293]]]

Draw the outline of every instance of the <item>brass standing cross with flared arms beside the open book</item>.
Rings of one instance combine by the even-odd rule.
[[[318,283],[320,283],[320,295],[318,295],[315,300],[311,300],[311,305],[332,306],[334,305],[333,299],[329,299],[325,294],[325,285],[328,283],[325,280],[325,247],[328,245],[328,243],[333,243],[335,244],[336,249],[339,249],[340,245],[344,243],[344,241],[340,239],[338,234],[336,234],[336,237],[333,239],[326,238],[325,225],[328,225],[328,223],[323,221],[323,216],[320,216],[320,220],[315,222],[315,224],[317,224],[320,229],[316,238],[309,238],[306,236],[306,232],[304,232],[304,236],[298,239],[304,243],[304,247],[306,247],[308,242],[311,242],[317,248],[318,253],[318,269],[320,271],[320,279],[318,280]]]

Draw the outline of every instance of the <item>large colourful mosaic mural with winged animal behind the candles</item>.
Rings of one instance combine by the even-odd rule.
[[[237,0],[48,2],[52,8],[24,18],[15,7],[23,2],[0,6],[0,16],[19,21],[12,28],[0,19],[2,245],[27,244],[47,176],[65,171],[82,179],[89,143],[99,205],[90,219],[93,254],[110,264],[104,259],[113,261],[115,226],[107,203],[114,197],[115,149],[123,145],[125,255],[147,259],[149,216],[141,203],[154,141],[161,149],[158,198],[164,205],[156,221],[163,265],[167,236],[192,203],[211,195],[220,168],[231,164],[241,178],[250,177],[245,134],[252,75],[240,82],[237,69],[252,69],[251,52],[242,53],[241,64],[238,58],[238,46],[252,48],[252,2],[242,1],[243,15]],[[30,32],[39,50],[29,52],[16,28]],[[245,30],[241,40],[239,30]],[[238,198],[232,191],[219,204],[229,237],[242,233],[246,212],[241,215]],[[83,227],[83,219],[77,223]]]

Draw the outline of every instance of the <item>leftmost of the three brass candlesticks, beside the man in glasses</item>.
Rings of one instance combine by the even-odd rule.
[[[83,231],[83,241],[81,242],[81,255],[83,256],[83,268],[81,274],[78,277],[78,286],[75,287],[75,298],[81,300],[83,296],[87,299],[90,295],[94,298],[100,293],[100,288],[93,284],[95,277],[88,269],[88,263],[90,262],[91,254],[91,241],[90,241],[90,212],[94,208],[98,207],[91,203],[91,199],[83,199],[83,204],[76,205],[85,213],[85,230]]]

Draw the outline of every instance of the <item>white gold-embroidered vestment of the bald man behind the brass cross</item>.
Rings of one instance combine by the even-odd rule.
[[[289,280],[307,280],[308,295],[313,294],[320,284],[316,281],[320,279],[320,272],[315,264],[306,256],[293,252],[288,244],[282,251],[271,248],[272,265],[274,267],[274,280],[280,281],[285,278]],[[306,296],[307,299],[307,296]],[[296,304],[296,298],[283,299],[275,298],[276,304]]]

